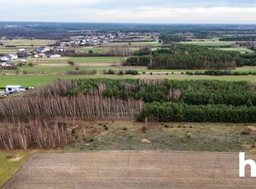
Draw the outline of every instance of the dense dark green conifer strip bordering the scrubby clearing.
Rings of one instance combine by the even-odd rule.
[[[152,103],[138,116],[139,121],[157,122],[256,122],[256,107]]]

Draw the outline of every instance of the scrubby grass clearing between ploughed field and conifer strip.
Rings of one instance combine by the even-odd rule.
[[[82,122],[64,151],[188,150],[255,152],[256,123]],[[249,131],[249,135],[243,135]]]

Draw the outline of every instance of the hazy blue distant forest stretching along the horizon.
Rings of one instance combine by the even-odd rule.
[[[221,32],[220,32],[221,31]],[[168,25],[168,24],[111,24],[111,23],[60,23],[60,22],[0,22],[0,37],[9,39],[67,39],[74,35],[102,35],[116,32],[159,33],[160,35],[186,35],[197,39],[220,35],[255,35],[255,25]],[[223,36],[223,37],[224,37]],[[179,41],[178,37],[172,39]]]

